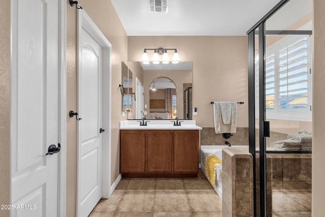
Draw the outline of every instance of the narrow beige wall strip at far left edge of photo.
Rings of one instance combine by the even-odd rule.
[[[10,1],[0,0],[0,205],[10,204]],[[1,210],[0,216],[9,216]]]

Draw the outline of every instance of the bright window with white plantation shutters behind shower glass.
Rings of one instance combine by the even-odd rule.
[[[311,121],[311,38],[290,35],[267,47],[265,99],[268,119]],[[258,63],[255,63],[255,75],[255,90],[258,91]],[[257,91],[255,105],[258,105]]]

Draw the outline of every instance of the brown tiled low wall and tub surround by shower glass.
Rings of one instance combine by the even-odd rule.
[[[222,161],[222,216],[253,216],[251,154],[247,148],[224,148]],[[311,216],[311,154],[267,154],[267,214]]]

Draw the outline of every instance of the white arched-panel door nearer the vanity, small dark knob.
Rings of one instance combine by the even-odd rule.
[[[103,48],[81,30],[78,70],[78,153],[80,216],[88,216],[102,197]],[[107,130],[107,129],[104,129]]]

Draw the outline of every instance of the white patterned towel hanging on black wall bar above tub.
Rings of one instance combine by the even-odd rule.
[[[237,102],[231,102],[231,107],[228,109],[230,123],[225,124],[222,120],[221,103],[214,102],[213,115],[214,115],[214,130],[216,134],[219,133],[236,133],[237,130]],[[225,113],[225,111],[224,111]],[[227,118],[225,118],[227,119]]]

